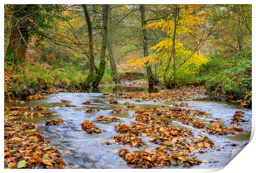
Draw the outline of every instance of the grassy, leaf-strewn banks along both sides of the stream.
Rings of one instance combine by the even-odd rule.
[[[206,68],[206,67],[205,67]],[[33,94],[53,94],[59,92],[77,92],[83,91],[82,83],[84,82],[86,74],[82,74],[81,70],[69,67],[67,70],[71,70],[69,73],[56,68],[52,73],[51,66],[28,64],[26,67],[19,69],[13,69],[12,66],[5,63],[5,98],[13,98],[16,96],[30,96]],[[208,69],[208,67],[207,67]],[[242,69],[242,70],[241,70]],[[204,94],[208,94],[212,97],[223,97],[230,101],[237,102],[241,107],[251,108],[251,79],[244,79],[241,76],[243,74],[250,75],[249,66],[242,66],[240,69],[241,74],[235,75],[235,69],[229,73],[219,72],[220,75],[216,77],[199,76],[196,79],[188,79],[186,82],[177,84],[174,89],[179,88],[197,88],[203,87]],[[72,71],[73,70],[73,71]],[[35,73],[34,75],[31,75]],[[107,86],[147,86],[148,81],[145,79],[130,80],[123,79],[120,83],[114,84],[111,80],[111,72],[107,71],[102,79],[100,87]],[[225,74],[230,75],[225,75]],[[79,75],[78,75],[79,74]],[[211,72],[212,74],[212,72]],[[83,76],[78,79],[77,77]],[[109,78],[110,77],[110,78]],[[238,81],[232,82],[231,77],[239,79]],[[65,82],[66,81],[66,82]],[[229,81],[225,84],[225,81]],[[239,85],[238,83],[241,83]],[[234,86],[231,86],[230,83]],[[239,87],[238,87],[239,86]],[[166,89],[164,85],[155,86],[158,90]],[[234,90],[235,89],[235,90]],[[240,91],[241,90],[241,91]],[[171,90],[170,90],[171,91]]]

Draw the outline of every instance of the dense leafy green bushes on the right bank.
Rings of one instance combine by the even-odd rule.
[[[206,84],[211,94],[222,93],[233,99],[247,97],[251,90],[251,54],[246,58],[238,53],[231,58],[211,59],[201,68],[199,82]],[[251,97],[248,99],[251,103]]]

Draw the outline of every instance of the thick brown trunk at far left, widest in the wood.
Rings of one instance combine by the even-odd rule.
[[[23,17],[19,14],[20,8],[20,5],[14,6],[14,19]],[[23,10],[28,9],[24,8]],[[26,25],[19,25],[17,23],[12,23],[12,27],[9,44],[5,52],[5,58],[12,58],[12,62],[14,64],[19,64],[25,60],[28,42],[28,28]]]

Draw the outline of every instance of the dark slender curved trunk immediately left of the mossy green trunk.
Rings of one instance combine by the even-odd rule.
[[[93,80],[93,73],[95,68],[95,62],[94,62],[94,55],[93,55],[93,37],[92,37],[92,22],[90,20],[90,14],[88,12],[87,5],[83,4],[83,10],[85,13],[85,19],[88,26],[88,38],[89,38],[89,56],[90,56],[90,68],[89,68],[89,74],[86,79],[85,88],[88,88],[91,86],[91,82]]]

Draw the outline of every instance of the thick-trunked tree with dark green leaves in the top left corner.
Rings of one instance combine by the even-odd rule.
[[[22,63],[26,56],[28,42],[33,35],[42,39],[44,29],[52,28],[54,19],[61,19],[62,5],[6,5],[5,34],[8,45],[5,58],[12,59],[14,64]]]

